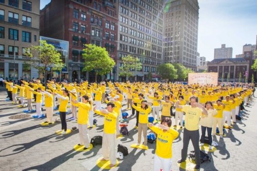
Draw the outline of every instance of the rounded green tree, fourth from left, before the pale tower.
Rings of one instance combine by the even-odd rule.
[[[161,75],[162,79],[169,79],[170,81],[174,81],[178,77],[177,69],[170,63],[159,65],[157,72]]]

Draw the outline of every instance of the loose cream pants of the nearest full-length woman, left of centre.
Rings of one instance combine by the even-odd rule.
[[[110,160],[111,164],[116,164],[116,134],[106,134],[103,132],[102,153],[105,160]]]

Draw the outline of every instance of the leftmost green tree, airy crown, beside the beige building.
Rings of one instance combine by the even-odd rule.
[[[50,73],[50,68],[54,71],[61,70],[64,66],[61,54],[54,48],[54,46],[47,44],[46,41],[39,41],[39,46],[32,46],[25,50],[27,56],[30,57],[30,64],[35,69],[39,70],[44,76],[44,83],[46,84],[47,74]]]

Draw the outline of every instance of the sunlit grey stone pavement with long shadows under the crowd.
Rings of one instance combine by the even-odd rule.
[[[22,113],[24,109],[6,102],[5,97],[6,92],[0,92],[0,170],[102,170],[96,165],[97,159],[101,157],[100,145],[87,152],[76,151],[74,145],[79,143],[78,130],[64,136],[56,135],[54,132],[61,128],[60,122],[41,126],[40,123],[45,119],[9,119],[12,115]],[[207,151],[211,162],[201,164],[200,170],[257,170],[256,101],[257,99],[253,98],[246,107],[242,121],[237,121],[232,130],[226,129],[227,136],[224,139],[214,137],[219,144],[217,150]],[[126,105],[123,105],[122,109],[125,110]],[[130,115],[131,111],[128,113]],[[95,118],[99,124],[89,130],[90,139],[96,135],[102,136],[103,118],[96,115]],[[134,128],[136,119],[131,116],[128,118],[130,136],[118,139],[117,145],[125,145],[129,154],[111,170],[153,170],[156,144],[148,143],[149,150],[131,148],[131,144],[137,143],[137,130]],[[67,125],[71,128],[77,126],[77,123],[68,121]],[[181,157],[183,129],[178,131],[179,137],[174,140],[172,147],[173,171],[185,170],[179,168],[176,163]],[[191,142],[188,149],[189,154],[193,150]]]

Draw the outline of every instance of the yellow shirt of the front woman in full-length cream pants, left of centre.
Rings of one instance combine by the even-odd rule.
[[[99,110],[95,110],[95,113],[104,116],[103,132],[105,134],[116,134],[116,121],[118,114],[115,111],[113,111],[105,115]]]

